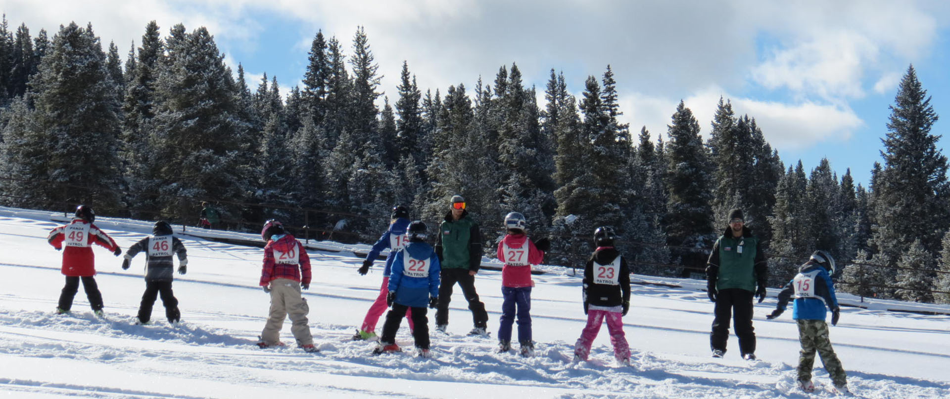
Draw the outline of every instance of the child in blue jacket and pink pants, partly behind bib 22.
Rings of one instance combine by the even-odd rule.
[[[386,268],[383,269],[383,284],[379,287],[379,295],[370,305],[370,310],[366,312],[366,317],[363,318],[363,325],[359,330],[356,330],[353,340],[378,339],[378,336],[376,336],[376,322],[379,321],[380,316],[383,316],[383,312],[389,308],[386,304],[386,297],[390,293],[392,260],[395,259],[396,253],[409,242],[409,236],[406,235],[406,227],[409,227],[409,208],[402,205],[392,207],[391,219],[390,228],[383,233],[376,244],[372,245],[370,253],[366,255],[366,260],[363,261],[363,265],[358,270],[360,275],[365,276],[370,271],[372,261],[379,256],[379,253],[383,249],[390,248],[390,255],[386,258]],[[409,330],[412,330],[411,310],[406,314],[406,318],[409,319]]]

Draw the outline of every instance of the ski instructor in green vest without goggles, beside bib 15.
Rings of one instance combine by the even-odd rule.
[[[769,278],[766,257],[759,240],[745,226],[742,209],[730,210],[726,220],[729,226],[712,245],[706,263],[706,289],[710,300],[715,302],[710,334],[712,357],[726,354],[729,319],[733,318],[735,335],[739,337],[739,353],[746,360],[755,360],[752,298],[758,297],[760,303],[766,298]]]

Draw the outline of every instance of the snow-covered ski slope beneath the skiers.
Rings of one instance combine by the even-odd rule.
[[[62,214],[61,214],[62,215]],[[532,317],[537,354],[495,354],[494,338],[466,336],[471,314],[456,289],[449,335],[432,334],[433,358],[413,356],[403,323],[402,354],[371,356],[373,344],[350,340],[382,279],[382,261],[360,276],[352,252],[314,250],[314,282],[305,298],[319,354],[290,345],[258,349],[268,296],[257,287],[262,250],[180,235],[188,249],[188,274],[176,275],[182,323],[166,324],[161,300],[154,325],[132,325],[144,282],[144,256],[129,270],[121,259],[95,247],[96,280],[106,317],[94,317],[80,289],[68,316],[53,314],[63,276],[61,253],[46,243],[59,224],[49,212],[0,209],[0,396],[50,397],[640,397],[777,398],[831,397],[827,373],[816,362],[806,394],[792,388],[798,336],[786,313],[767,321],[772,298],[756,305],[756,354],[741,360],[734,336],[731,351],[709,351],[712,303],[700,283],[670,280],[680,287],[636,284],[625,331],[631,367],[618,367],[603,327],[591,361],[571,364],[574,341],[585,317],[580,278],[569,269],[543,267],[535,276]],[[127,248],[150,232],[150,224],[103,218],[97,225]],[[248,235],[251,237],[251,235]],[[346,248],[344,248],[346,249]],[[637,281],[661,281],[637,276]],[[476,286],[498,327],[501,273],[479,273]],[[843,302],[857,303],[846,298]],[[845,307],[831,340],[852,391],[868,398],[950,397],[950,316],[890,312],[871,302]],[[864,305],[868,305],[865,303]],[[893,305],[893,303],[891,303]],[[947,306],[930,306],[950,311]],[[429,313],[430,325],[433,313]],[[290,324],[282,338],[293,342]],[[380,320],[378,329],[382,327]],[[495,336],[492,332],[492,336]],[[516,345],[517,346],[517,345]]]

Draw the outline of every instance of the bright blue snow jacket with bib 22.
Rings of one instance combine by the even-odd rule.
[[[392,261],[390,292],[396,293],[395,302],[409,307],[428,306],[429,297],[439,296],[441,270],[431,245],[422,241],[406,245]]]

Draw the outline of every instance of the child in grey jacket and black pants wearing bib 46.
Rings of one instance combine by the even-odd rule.
[[[128,247],[125,259],[122,262],[123,270],[127,270],[132,258],[145,250],[145,293],[142,294],[142,304],[139,305],[139,316],[136,324],[148,324],[152,318],[152,305],[155,298],[161,295],[161,304],[165,306],[165,318],[169,324],[177,324],[181,318],[178,308],[178,299],[172,293],[172,281],[175,280],[172,254],[178,254],[179,273],[185,274],[188,268],[188,256],[184,245],[178,237],[172,235],[172,227],[165,221],[155,222],[152,227],[152,236],[145,237],[138,243]]]

